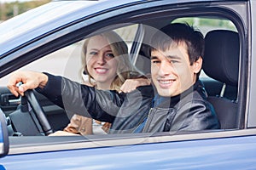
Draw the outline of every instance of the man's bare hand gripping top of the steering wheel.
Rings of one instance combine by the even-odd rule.
[[[17,84],[22,82],[20,86]],[[16,97],[24,95],[27,89],[44,88],[48,82],[48,77],[44,73],[35,71],[15,71],[9,78],[7,87]]]

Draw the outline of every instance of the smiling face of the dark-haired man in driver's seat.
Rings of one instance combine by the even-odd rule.
[[[152,51],[151,74],[158,94],[172,97],[190,88],[201,70],[201,62],[200,58],[190,65],[185,42],[172,43],[166,51]]]

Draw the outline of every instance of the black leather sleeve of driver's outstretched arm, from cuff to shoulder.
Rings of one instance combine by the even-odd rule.
[[[112,123],[116,116],[124,113],[129,116],[131,110],[139,107],[144,99],[152,99],[154,95],[152,86],[139,87],[129,94],[119,94],[116,91],[97,90],[64,77],[54,77],[49,74],[48,77],[47,85],[44,89],[38,88],[38,92],[65,108],[66,111],[102,122]],[[61,88],[56,89],[56,87]],[[86,110],[87,113],[84,112]]]

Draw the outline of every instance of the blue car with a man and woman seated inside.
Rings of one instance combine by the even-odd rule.
[[[255,0],[52,1],[4,21],[0,169],[256,169],[253,8]],[[146,49],[152,32],[179,22],[193,25],[205,36],[200,78],[220,129],[47,136],[35,104],[21,111],[26,99],[38,101],[43,119],[54,131],[67,126],[68,112],[42,94],[17,98],[6,87],[17,70],[47,71],[80,82],[84,39],[110,30],[127,42],[132,64],[147,75]]]

